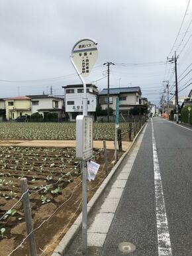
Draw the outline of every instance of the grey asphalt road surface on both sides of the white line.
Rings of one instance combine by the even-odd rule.
[[[158,117],[152,121],[162,192],[154,182],[157,163],[149,121],[105,240],[103,256],[124,255],[118,247],[124,241],[136,245],[134,253],[128,255],[192,256],[192,129]],[[160,203],[157,206],[158,193],[164,198],[165,209]],[[167,224],[158,223],[161,216],[157,208],[166,216]],[[163,239],[169,239],[171,253],[161,254],[164,243],[160,243],[158,230],[164,225],[168,233]]]

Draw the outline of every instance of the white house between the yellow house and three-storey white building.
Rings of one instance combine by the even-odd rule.
[[[40,113],[46,119],[48,113],[57,113],[58,119],[64,118],[64,99],[51,95],[30,95],[31,113]]]

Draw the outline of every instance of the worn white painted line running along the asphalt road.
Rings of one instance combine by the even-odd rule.
[[[152,118],[151,118],[152,121]],[[158,153],[156,148],[156,139],[154,137],[154,125],[152,121],[152,144],[154,157],[154,184],[156,196],[156,222],[158,233],[158,255],[171,256],[171,241],[169,237],[168,219],[166,214],[166,206],[164,201],[164,192],[162,188],[162,178],[160,174],[160,166],[158,162]]]

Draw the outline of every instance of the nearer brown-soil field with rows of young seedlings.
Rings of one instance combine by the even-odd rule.
[[[109,162],[113,154],[108,151]],[[89,199],[107,175],[103,151],[95,149],[94,155],[101,166],[95,180],[88,182]],[[44,249],[42,255],[50,255],[57,244],[54,241],[60,241],[81,212],[81,173],[75,149],[0,147],[0,157],[0,255],[9,255],[26,237],[23,204],[19,202],[23,177],[28,180],[38,255]],[[28,255],[26,241],[11,255]]]

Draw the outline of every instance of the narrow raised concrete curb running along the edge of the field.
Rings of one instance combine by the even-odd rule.
[[[128,152],[130,151],[130,149],[132,148],[132,146],[134,145],[134,142],[136,141],[138,135],[140,135],[142,129],[144,128],[144,126],[146,125],[146,123],[144,123],[144,125],[141,127],[140,131],[138,132],[138,134],[136,135],[136,137],[134,137],[131,145],[128,147],[128,149],[126,150],[126,152],[120,157],[120,159],[118,160],[118,162],[115,164],[115,166],[113,167],[113,169],[111,170],[111,172],[107,175],[107,177],[105,178],[105,180],[103,181],[103,183],[101,184],[101,186],[99,186],[99,188],[97,189],[97,191],[95,192],[95,194],[93,195],[93,197],[91,198],[91,200],[89,201],[89,203],[87,204],[87,213],[88,216],[91,212],[91,210],[93,209],[93,206],[95,205],[95,203],[97,202],[97,200],[99,199],[99,197],[101,196],[101,194],[103,194],[105,188],[107,187],[107,185],[109,184],[109,182],[111,181],[111,178],[113,177],[113,175],[115,174],[115,172],[117,171],[117,169],[119,168],[120,164],[122,163],[122,161],[124,160],[124,158],[126,157],[126,155],[128,154]],[[70,243],[72,242],[73,238],[75,237],[75,235],[77,234],[77,232],[79,231],[80,227],[82,224],[82,213],[79,214],[79,216],[77,217],[77,219],[75,220],[75,222],[73,223],[73,225],[70,227],[70,229],[68,230],[68,232],[66,233],[66,235],[64,235],[64,237],[62,238],[62,240],[60,241],[60,243],[58,244],[58,246],[56,247],[56,249],[54,250],[54,252],[52,253],[52,256],[61,256],[61,255],[65,255],[66,249],[69,247]]]

